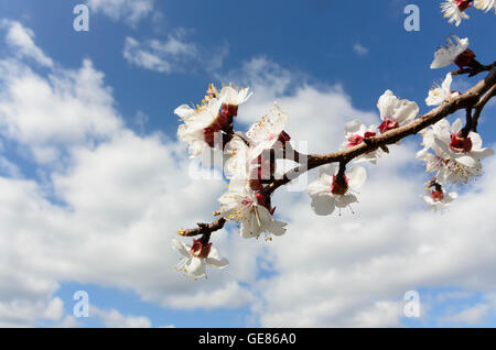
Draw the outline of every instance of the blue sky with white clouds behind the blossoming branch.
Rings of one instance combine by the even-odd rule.
[[[427,178],[414,160],[419,138],[396,147],[396,155],[377,167],[370,190],[364,192],[363,201],[370,200],[362,204],[363,215],[321,220],[308,210],[304,194],[278,194],[278,212],[292,222],[289,231],[298,240],[289,236],[269,247],[245,245],[229,228],[218,244],[233,266],[212,272],[207,281],[184,281],[172,271],[179,256],[169,243],[180,227],[208,219],[225,186],[188,179],[190,161],[176,140],[174,108],[200,100],[208,83],[254,86],[256,97],[240,109],[241,127],[278,99],[290,118],[294,111],[293,140],[296,135],[313,150],[332,151],[342,142],[344,122],[377,118],[377,98],[386,89],[427,112],[429,88],[448,72],[429,65],[450,34],[468,36],[477,58],[493,62],[494,14],[473,10],[471,20],[456,28],[442,18],[439,1],[411,1],[420,8],[421,30],[407,32],[403,9],[410,2],[400,0],[140,0],[134,4],[150,8],[138,17],[131,1],[88,2],[89,32],[76,32],[73,8],[83,0],[0,0],[8,23],[0,28],[0,61],[11,65],[0,69],[1,186],[12,189],[1,205],[18,208],[2,214],[8,225],[0,229],[0,242],[11,255],[0,260],[6,291],[0,292],[0,325],[495,325],[496,283],[488,265],[496,238],[487,200],[494,201],[496,163],[488,160],[489,175],[466,194],[460,190],[464,197],[457,209],[435,217],[412,195],[421,194]],[[12,23],[32,31],[34,45],[53,65],[8,44]],[[152,41],[173,42],[176,51],[153,52]],[[129,42],[157,55],[160,64],[147,66],[137,51],[126,54]],[[463,90],[477,78],[457,78],[455,86]],[[24,83],[21,91],[35,94],[43,88],[33,81],[44,81],[53,88],[46,95],[53,100],[32,102],[31,110],[29,99],[10,98],[15,81]],[[61,119],[51,119],[51,105],[54,113],[77,109],[74,121],[63,123],[67,129],[60,128]],[[24,113],[22,122],[3,117],[8,108]],[[91,113],[95,120],[87,118]],[[494,105],[479,129],[486,145],[496,140],[490,113]],[[50,127],[31,123],[36,118]],[[477,219],[478,243],[467,236],[471,226],[460,221],[466,208],[487,215]],[[322,236],[326,231],[331,238]],[[305,232],[309,245],[302,253],[296,247]],[[322,259],[321,250],[312,251],[320,240],[328,247]],[[292,254],[303,258],[290,262]],[[309,277],[292,294],[288,286],[301,281],[305,269],[325,283],[313,285],[319,278]],[[88,292],[95,307],[89,318],[72,317],[72,296],[79,289]],[[410,289],[419,291],[424,303],[419,319],[398,311]],[[300,295],[309,295],[306,302]],[[288,324],[299,315],[299,321]]]

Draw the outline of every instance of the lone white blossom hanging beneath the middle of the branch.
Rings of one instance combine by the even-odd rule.
[[[335,163],[323,165],[319,168],[316,179],[309,184],[308,192],[316,215],[330,215],[336,207],[341,212],[341,208],[358,201],[355,194],[367,178],[365,168],[354,166],[345,172],[343,178],[337,175],[338,169]]]

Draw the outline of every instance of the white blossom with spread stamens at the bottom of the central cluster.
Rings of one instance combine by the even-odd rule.
[[[285,233],[287,223],[273,218],[274,209],[269,200],[249,188],[244,179],[231,179],[228,192],[219,198],[219,203],[220,215],[240,225],[239,234],[242,238],[259,238],[265,233],[271,239],[271,234]]]

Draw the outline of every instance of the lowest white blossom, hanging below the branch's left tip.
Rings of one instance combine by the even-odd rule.
[[[190,247],[174,238],[172,247],[183,255],[176,270],[195,280],[206,277],[206,266],[224,269],[229,264],[226,258],[219,258],[212,243],[204,244],[201,240],[193,239],[193,245]]]

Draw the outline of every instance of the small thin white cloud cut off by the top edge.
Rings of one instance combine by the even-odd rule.
[[[114,21],[134,26],[153,11],[153,0],[88,0],[91,11],[101,12]]]

